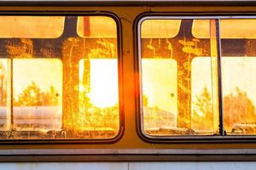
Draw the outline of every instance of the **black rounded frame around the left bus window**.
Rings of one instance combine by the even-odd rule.
[[[113,138],[109,139],[0,139],[0,144],[113,144],[119,141],[121,137],[123,136],[123,133],[125,131],[125,116],[124,116],[124,96],[123,96],[123,58],[122,58],[122,28],[121,28],[121,22],[119,20],[119,17],[116,14],[113,14],[112,12],[108,11],[49,11],[45,13],[45,11],[32,11],[32,12],[21,12],[15,14],[9,13],[9,12],[1,12],[0,16],[106,16],[111,18],[115,24],[116,24],[116,42],[117,42],[117,68],[118,68],[118,94],[119,94],[119,131],[116,133]],[[65,24],[65,23],[64,23]],[[76,26],[78,28],[78,25]],[[75,30],[78,34],[77,29]],[[61,33],[62,36],[63,32]],[[1,37],[0,37],[1,38]],[[11,38],[11,37],[9,37]],[[56,37],[59,38],[59,37]],[[50,38],[50,39],[56,39],[56,38]],[[81,37],[83,38],[83,37]],[[8,38],[6,38],[8,39]],[[32,38],[34,39],[34,38]],[[47,39],[47,38],[42,38]],[[5,58],[3,58],[5,59]],[[6,58],[10,59],[10,58]],[[25,58],[26,59],[26,58]],[[37,59],[37,58],[35,58]],[[42,59],[42,57],[38,57],[38,59]],[[43,59],[47,59],[44,58]],[[56,56],[52,57],[52,59],[61,59],[62,64],[62,111],[63,111],[63,105],[64,105],[64,65],[63,65],[63,58],[62,56]]]

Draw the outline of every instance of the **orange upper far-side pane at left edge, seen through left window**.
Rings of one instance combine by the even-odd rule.
[[[64,29],[62,16],[1,16],[0,37],[60,37]]]

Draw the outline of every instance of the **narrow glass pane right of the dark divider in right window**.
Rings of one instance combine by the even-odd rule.
[[[230,135],[256,134],[255,22],[254,19],[220,22],[220,34],[232,27],[239,35],[221,39],[224,129]]]

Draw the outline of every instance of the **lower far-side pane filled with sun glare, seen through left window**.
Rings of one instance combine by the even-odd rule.
[[[117,59],[79,61],[81,129],[92,138],[113,138],[119,130]]]

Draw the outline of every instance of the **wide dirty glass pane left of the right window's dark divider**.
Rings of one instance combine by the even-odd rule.
[[[212,24],[213,33],[208,29],[211,38],[200,39],[192,35],[194,21],[148,19],[142,23],[141,102],[143,130],[148,135],[218,133],[218,107],[212,102],[217,89],[212,88],[212,77],[217,77],[213,71],[217,68],[215,23],[204,22]],[[151,31],[158,26],[161,31]]]

